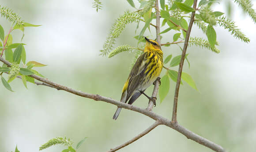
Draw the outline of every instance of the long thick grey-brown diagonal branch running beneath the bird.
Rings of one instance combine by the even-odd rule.
[[[8,62],[7,60],[5,60],[3,57],[0,57],[0,61],[3,62],[4,64],[6,64],[8,67],[11,67],[11,63]],[[70,87],[66,87],[66,86],[60,85],[58,83],[54,83],[53,81],[50,81],[48,79],[42,78],[42,77],[34,75],[34,74],[30,75],[30,77],[32,77],[32,78],[34,78],[38,81],[41,81],[43,83],[47,83],[47,84],[49,84],[53,87],[60,88],[61,90],[70,92],[72,94],[75,94],[75,95],[78,95],[78,96],[81,96],[81,97],[84,97],[84,98],[90,98],[90,99],[93,99],[95,101],[104,101],[104,102],[107,102],[107,103],[110,103],[110,104],[113,104],[113,105],[117,105],[120,108],[129,109],[129,110],[132,110],[132,111],[135,111],[135,112],[139,112],[139,113],[141,113],[145,116],[148,116],[148,117],[150,117],[154,120],[159,120],[161,122],[161,124],[166,125],[170,128],[173,128],[174,130],[177,130],[178,132],[180,132],[181,134],[186,136],[188,139],[196,141],[199,144],[204,145],[208,148],[211,148],[212,150],[214,150],[216,152],[225,152],[224,148],[222,148],[220,145],[217,145],[214,142],[209,141],[206,138],[203,138],[203,137],[193,133],[192,131],[182,127],[178,123],[172,123],[171,120],[169,120],[167,118],[164,118],[164,117],[158,115],[157,113],[154,113],[154,112],[149,111],[147,109],[139,108],[139,107],[134,106],[134,105],[128,105],[126,103],[114,100],[112,98],[103,97],[103,96],[98,95],[98,94],[88,94],[86,92],[77,91],[77,90],[74,90]]]

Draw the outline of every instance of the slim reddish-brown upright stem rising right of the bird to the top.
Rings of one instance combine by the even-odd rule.
[[[194,4],[193,4],[194,9],[196,9],[196,3],[197,3],[197,0],[194,0]],[[175,93],[174,93],[172,123],[177,123],[177,104],[178,104],[178,95],[179,95],[179,89],[180,89],[180,84],[181,84],[181,72],[182,72],[182,68],[183,68],[183,64],[184,64],[186,51],[188,48],[188,40],[189,40],[190,32],[192,29],[192,25],[194,22],[195,13],[196,12],[193,11],[191,14],[190,22],[188,25],[188,32],[186,34],[186,39],[185,39],[183,51],[181,54],[181,62],[180,62],[180,66],[179,66],[178,78],[177,78],[177,83],[176,83],[176,88],[175,88]]]

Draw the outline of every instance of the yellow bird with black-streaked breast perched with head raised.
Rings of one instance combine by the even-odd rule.
[[[146,45],[143,54],[139,56],[134,64],[121,95],[121,102],[127,102],[132,105],[141,94],[154,102],[156,98],[149,97],[144,91],[151,86],[157,79],[163,68],[163,52],[161,46],[155,41],[144,36]],[[117,119],[122,108],[118,107],[113,119]]]

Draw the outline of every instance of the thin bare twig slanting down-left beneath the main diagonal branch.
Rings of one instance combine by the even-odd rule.
[[[144,130],[142,133],[138,134],[137,136],[135,136],[131,140],[125,142],[124,144],[122,144],[120,146],[117,146],[116,148],[110,149],[109,152],[116,152],[117,150],[119,150],[121,148],[124,148],[127,145],[132,144],[134,141],[138,140],[139,138],[142,138],[145,134],[149,133],[151,130],[153,130],[155,127],[157,127],[160,124],[161,124],[160,121],[157,120],[150,127],[148,127],[146,130]]]

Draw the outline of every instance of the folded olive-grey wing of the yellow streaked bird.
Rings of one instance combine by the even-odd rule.
[[[141,83],[142,78],[144,77],[144,72],[147,69],[147,65],[145,63],[145,57],[147,56],[147,52],[143,53],[136,61],[130,73],[130,80],[127,88],[127,97],[126,101],[131,97],[133,91],[138,87],[139,83]]]

